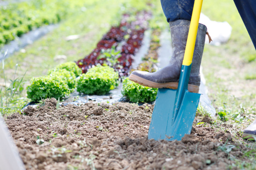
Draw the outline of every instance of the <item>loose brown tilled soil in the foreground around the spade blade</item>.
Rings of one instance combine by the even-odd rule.
[[[154,105],[56,104],[46,99],[5,120],[28,170],[222,170],[245,159],[232,125],[217,132],[207,116],[181,141],[155,141],[147,139]]]

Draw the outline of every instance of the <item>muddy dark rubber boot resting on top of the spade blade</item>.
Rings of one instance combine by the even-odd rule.
[[[187,43],[187,35],[190,27],[189,20],[176,20],[169,22],[171,31],[171,41],[173,46],[173,54],[169,64],[158,70],[149,73],[142,71],[133,71],[129,79],[140,85],[154,88],[178,88],[178,80],[181,72],[181,65],[185,53]],[[194,55],[192,60],[192,68],[190,79],[188,82],[188,91],[198,93],[200,85],[200,65],[203,55],[204,41],[206,38],[206,26],[199,24],[197,38],[194,47]]]

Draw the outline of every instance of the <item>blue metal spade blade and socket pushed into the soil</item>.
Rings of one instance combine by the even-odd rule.
[[[200,95],[187,90],[190,66],[182,66],[178,89],[158,89],[149,139],[181,140],[190,134]]]

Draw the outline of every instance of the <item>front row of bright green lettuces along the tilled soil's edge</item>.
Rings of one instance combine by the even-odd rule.
[[[96,65],[82,74],[74,62],[57,65],[47,76],[32,78],[27,86],[27,98],[40,101],[44,98],[64,98],[76,89],[82,94],[104,95],[119,85],[119,74],[107,65]],[[157,89],[144,87],[123,79],[122,94],[132,102],[155,100]]]

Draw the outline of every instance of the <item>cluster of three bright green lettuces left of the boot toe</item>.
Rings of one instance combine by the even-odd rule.
[[[32,78],[27,86],[27,98],[40,101],[42,98],[64,98],[76,89],[80,93],[103,95],[119,85],[119,75],[109,66],[97,65],[81,74],[74,63],[57,65],[47,76]]]

